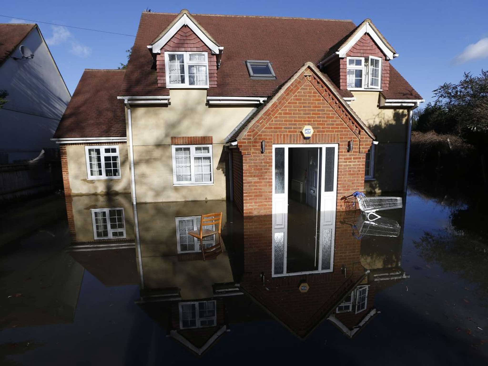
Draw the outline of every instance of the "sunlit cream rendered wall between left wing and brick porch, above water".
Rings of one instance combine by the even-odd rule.
[[[224,140],[252,106],[206,105],[207,91],[171,90],[168,106],[132,106],[137,202],[225,199]],[[213,185],[173,186],[171,137],[213,137]]]

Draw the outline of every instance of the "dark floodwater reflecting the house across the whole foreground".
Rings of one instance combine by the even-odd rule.
[[[301,243],[292,213],[286,235],[226,202],[138,204],[138,238],[130,197],[73,197],[74,221],[2,249],[0,364],[486,365],[483,211],[413,189],[404,203],[389,229],[341,211]],[[203,261],[187,231],[220,211],[224,251]]]

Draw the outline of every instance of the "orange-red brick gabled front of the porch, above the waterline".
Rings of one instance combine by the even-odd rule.
[[[342,196],[364,189],[364,154],[371,139],[325,84],[307,70],[287,87],[238,142],[243,154],[244,216],[272,212],[273,144],[338,143],[338,208]],[[304,140],[301,134],[306,124],[315,131],[310,140]],[[264,154],[261,154],[262,140],[266,145]],[[346,152],[348,141],[354,142],[350,153]]]

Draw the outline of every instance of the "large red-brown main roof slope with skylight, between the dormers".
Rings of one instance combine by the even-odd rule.
[[[147,45],[178,14],[143,12],[122,95],[169,95],[158,88]],[[318,63],[329,47],[356,26],[351,20],[192,15],[224,47],[216,88],[208,96],[268,96],[307,61]],[[246,60],[269,60],[276,80],[251,80]]]

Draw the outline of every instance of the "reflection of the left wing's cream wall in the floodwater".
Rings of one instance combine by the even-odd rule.
[[[93,242],[92,208],[122,207],[125,219],[125,238],[134,240],[134,210],[130,194],[121,195],[86,195],[73,196],[73,219],[75,222],[76,242]]]

